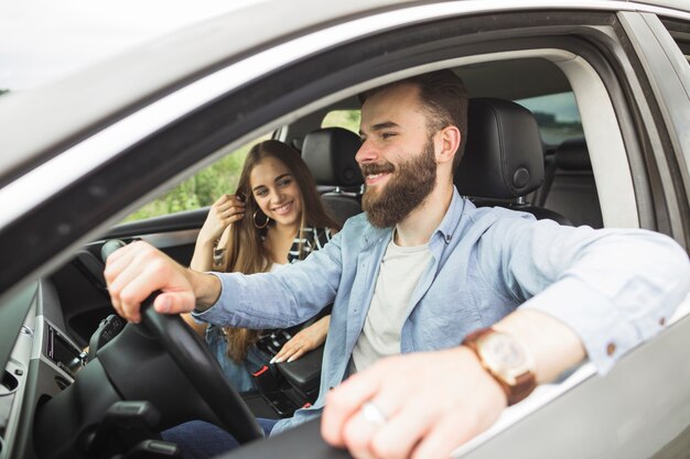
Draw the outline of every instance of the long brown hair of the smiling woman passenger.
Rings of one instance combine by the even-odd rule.
[[[260,222],[266,220],[266,216],[254,199],[251,184],[249,183],[251,171],[267,157],[273,157],[283,163],[300,187],[302,195],[300,239],[303,239],[302,231],[305,227],[339,229],[339,226],[326,214],[316,190],[314,177],[300,153],[283,142],[277,140],[263,141],[251,147],[239,176],[235,194],[242,196],[245,199],[245,216],[241,220],[233,223],[230,228],[224,265],[226,272],[254,274],[268,271],[271,267],[272,262],[270,256],[268,256],[262,240],[268,227],[258,229],[254,221],[255,212],[257,212],[257,220]],[[249,346],[257,341],[261,331],[226,327],[225,332],[228,342],[228,356],[236,362],[240,362],[247,356]]]

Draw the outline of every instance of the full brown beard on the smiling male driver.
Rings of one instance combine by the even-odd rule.
[[[379,193],[371,188],[366,189],[362,208],[373,226],[389,228],[402,221],[433,190],[436,183],[433,141],[430,139],[427,142],[419,156],[398,166],[388,161],[362,165],[365,177],[379,173],[392,175]]]

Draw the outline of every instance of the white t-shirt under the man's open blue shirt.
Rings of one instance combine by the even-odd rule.
[[[381,357],[400,353],[400,332],[410,313],[410,299],[430,262],[429,244],[400,247],[390,241],[353,351],[351,373],[367,369]]]

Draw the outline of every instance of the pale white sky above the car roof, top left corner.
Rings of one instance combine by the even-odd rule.
[[[0,89],[22,90],[259,0],[6,0]]]

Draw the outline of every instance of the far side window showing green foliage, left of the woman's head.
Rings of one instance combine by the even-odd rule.
[[[229,152],[219,161],[197,172],[193,177],[182,182],[163,196],[153,199],[130,214],[122,222],[198,209],[200,207],[211,206],[225,193],[234,193],[249,149],[257,142],[269,138],[269,134],[263,135]]]

